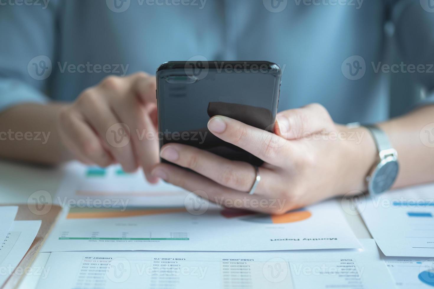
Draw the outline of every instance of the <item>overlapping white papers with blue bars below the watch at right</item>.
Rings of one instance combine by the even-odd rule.
[[[434,286],[434,185],[387,192],[359,211],[401,288]],[[418,258],[415,258],[418,257]]]

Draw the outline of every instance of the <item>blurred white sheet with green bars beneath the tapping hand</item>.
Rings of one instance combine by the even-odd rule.
[[[143,171],[123,172],[121,166],[83,166],[71,162],[53,203],[65,206],[179,206],[188,194],[182,188],[160,181],[149,184]]]

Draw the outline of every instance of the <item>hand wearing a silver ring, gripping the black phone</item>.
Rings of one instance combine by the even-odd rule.
[[[215,136],[265,162],[253,195],[247,194],[256,178],[251,164],[179,143],[164,145],[160,156],[194,172],[161,163],[152,175],[210,201],[270,214],[365,190],[375,145],[370,137],[355,138],[356,133],[368,135],[363,128],[336,125],[319,104],[283,111],[276,122],[276,134],[224,116],[208,123]]]

